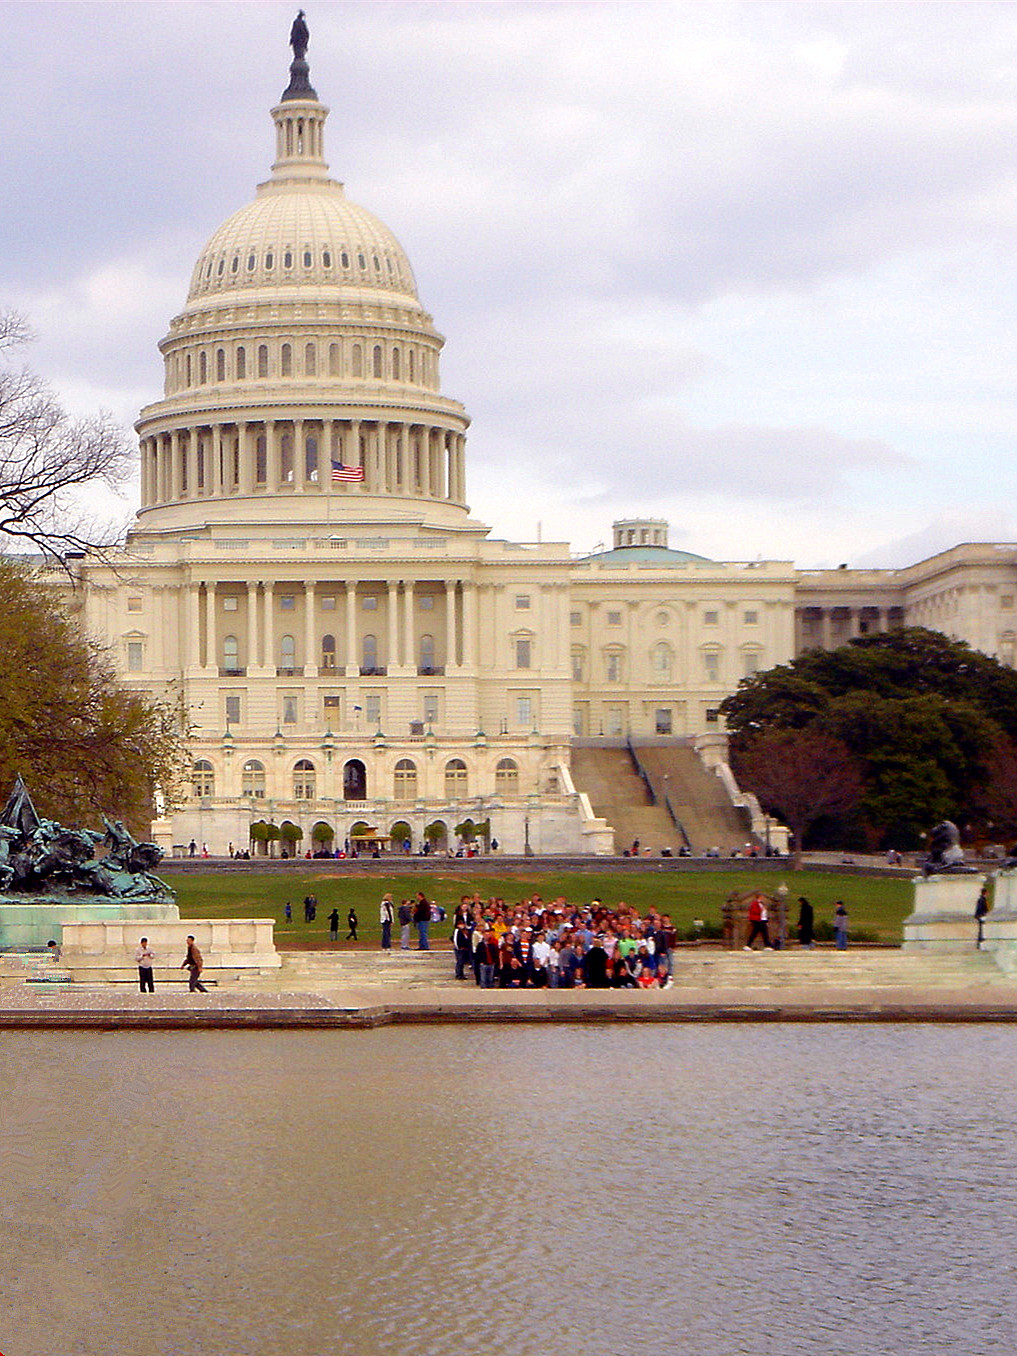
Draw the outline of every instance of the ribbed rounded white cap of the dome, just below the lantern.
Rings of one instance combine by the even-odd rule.
[[[210,237],[187,300],[247,289],[313,287],[392,293],[416,300],[403,247],[334,179],[274,179]]]

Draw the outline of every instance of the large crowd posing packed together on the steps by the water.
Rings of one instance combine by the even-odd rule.
[[[464,895],[456,909],[456,978],[481,989],[670,989],[675,929],[670,914],[645,918],[540,895],[517,904]]]

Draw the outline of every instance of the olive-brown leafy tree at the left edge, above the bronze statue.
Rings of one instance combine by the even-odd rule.
[[[0,789],[20,773],[43,815],[104,811],[148,833],[156,793],[184,785],[183,734],[179,709],[119,686],[53,591],[0,556]]]

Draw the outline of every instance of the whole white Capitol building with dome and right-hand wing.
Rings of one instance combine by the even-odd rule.
[[[613,852],[576,747],[671,740],[725,772],[717,706],[742,677],[872,631],[1013,663],[1009,545],[803,572],[670,549],[658,519],[579,559],[492,538],[442,336],[399,241],[328,176],[294,34],[271,178],[210,236],[160,344],[126,548],[75,563],[123,681],[190,713],[167,849],[289,822],[300,852],[365,831],[418,850],[472,819],[510,853]]]

